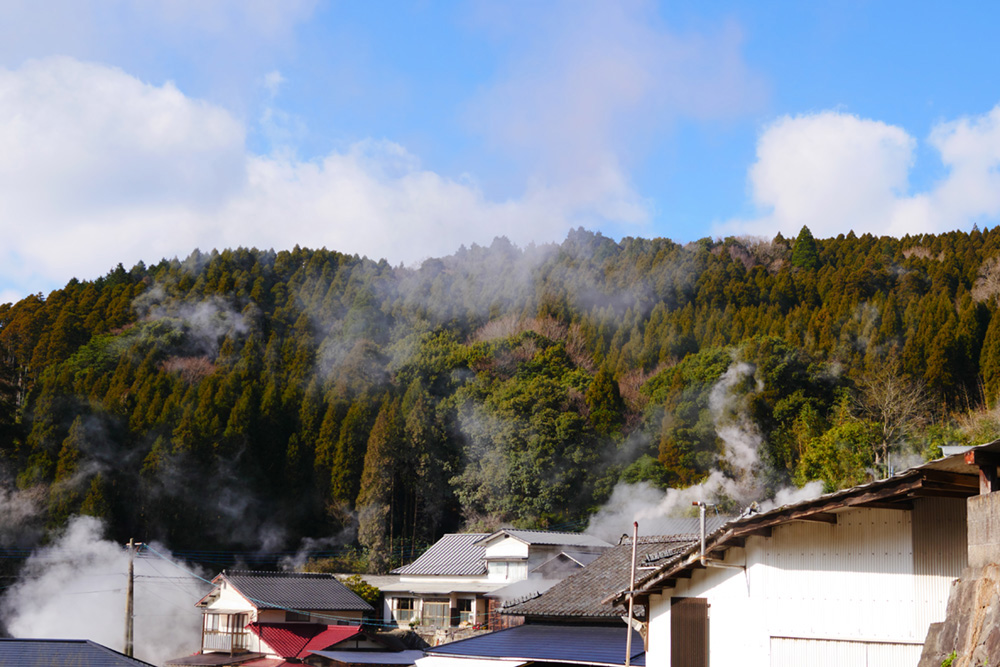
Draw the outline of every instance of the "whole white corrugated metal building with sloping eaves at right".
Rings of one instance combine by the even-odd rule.
[[[981,566],[997,561],[998,461],[1000,441],[741,517],[666,559],[647,556],[640,565],[652,567],[640,568],[634,589],[646,664],[917,665],[928,629],[947,634],[949,593],[970,554]],[[975,544],[967,521],[978,526]],[[624,605],[627,590],[608,600]],[[938,640],[939,650],[974,644],[963,632]]]

